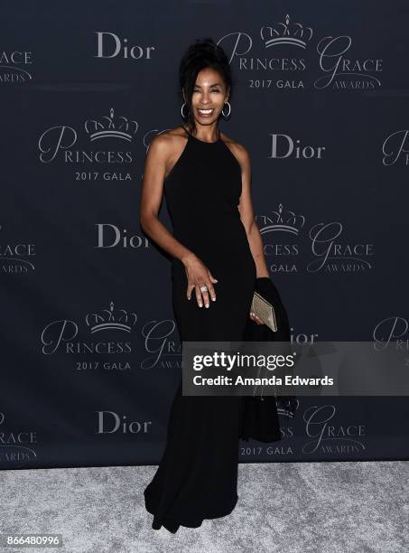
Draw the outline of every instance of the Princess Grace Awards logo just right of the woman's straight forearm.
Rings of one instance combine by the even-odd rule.
[[[274,258],[272,273],[298,273],[304,267],[299,261],[302,252],[311,252],[313,259],[305,266],[309,273],[357,273],[372,269],[373,244],[340,239],[343,225],[339,221],[320,222],[307,234],[305,216],[293,210],[278,209],[256,214],[263,237],[265,258]]]

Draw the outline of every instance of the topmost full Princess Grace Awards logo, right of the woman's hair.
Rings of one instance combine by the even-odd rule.
[[[315,38],[309,23],[293,22],[289,14],[284,21],[262,25],[257,37],[236,31],[218,44],[230,63],[251,74],[250,89],[362,90],[381,85],[382,60],[357,56],[347,34]]]

